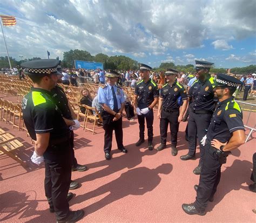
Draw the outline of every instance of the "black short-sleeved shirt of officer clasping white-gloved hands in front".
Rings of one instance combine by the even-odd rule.
[[[150,106],[154,101],[154,97],[159,97],[159,89],[151,79],[147,82],[141,80],[136,84],[134,94],[138,95],[138,107],[144,108]]]

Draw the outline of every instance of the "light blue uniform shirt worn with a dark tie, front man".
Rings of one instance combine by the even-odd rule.
[[[117,96],[117,106],[118,109],[121,108],[121,104],[124,103],[124,92],[121,88],[117,87],[116,85],[114,87],[114,93],[116,93]],[[100,87],[98,89],[98,97],[99,97],[99,103],[107,104],[112,110],[114,109],[114,99],[113,94],[111,91],[111,85],[109,83],[106,83],[105,86]]]

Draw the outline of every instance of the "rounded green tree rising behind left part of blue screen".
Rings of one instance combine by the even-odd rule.
[[[94,57],[85,50],[70,50],[63,53],[63,64],[65,67],[72,68],[75,66],[75,60],[93,61]]]

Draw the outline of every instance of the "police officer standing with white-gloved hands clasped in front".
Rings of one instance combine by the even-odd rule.
[[[157,104],[159,97],[157,84],[149,77],[151,69],[150,66],[140,64],[139,71],[143,80],[137,82],[134,90],[134,107],[136,108],[139,121],[139,141],[136,143],[136,147],[145,142],[144,130],[146,119],[149,150],[153,150],[153,107]]]

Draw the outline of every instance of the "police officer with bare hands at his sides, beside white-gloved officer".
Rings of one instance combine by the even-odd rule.
[[[160,135],[161,144],[157,147],[157,151],[166,148],[166,138],[168,124],[171,129],[172,156],[178,154],[177,151],[177,135],[179,131],[179,122],[183,120],[183,115],[187,108],[187,94],[183,85],[177,82],[178,75],[176,69],[166,69],[165,78],[167,83],[160,90],[160,99],[158,102],[158,118],[160,119]],[[179,111],[179,99],[183,101],[181,112]]]

